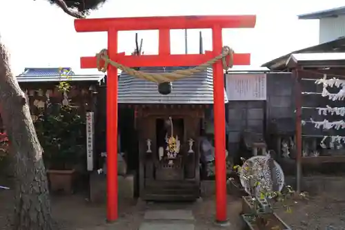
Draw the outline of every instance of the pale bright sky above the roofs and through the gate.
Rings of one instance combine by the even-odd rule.
[[[292,50],[318,43],[318,20],[298,20],[297,15],[343,6],[343,0],[108,0],[90,18],[145,17],[170,15],[257,15],[255,29],[224,30],[224,45],[235,52],[251,52],[252,66]],[[18,7],[20,6],[20,8]],[[199,30],[188,30],[188,51],[199,50]],[[184,31],[171,32],[172,53],[184,53]],[[11,53],[14,74],[25,67],[70,66],[76,73],[95,73],[79,69],[80,56],[92,56],[106,47],[106,33],[77,33],[72,17],[45,0],[3,0],[0,14],[1,41]],[[204,48],[211,50],[210,30],[203,30]],[[146,54],[158,50],[157,31],[141,31]],[[121,32],[119,52],[135,48],[135,32]]]

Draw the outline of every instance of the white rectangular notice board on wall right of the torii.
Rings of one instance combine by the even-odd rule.
[[[226,95],[229,101],[265,101],[266,74],[226,75]]]

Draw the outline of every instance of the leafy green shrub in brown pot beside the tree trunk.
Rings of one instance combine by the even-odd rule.
[[[34,122],[39,142],[43,148],[52,191],[72,193],[75,168],[86,157],[85,118],[76,108],[49,104]]]

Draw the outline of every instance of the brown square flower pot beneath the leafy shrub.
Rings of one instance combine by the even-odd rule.
[[[73,193],[75,169],[72,170],[47,170],[50,191],[63,191],[66,194]]]

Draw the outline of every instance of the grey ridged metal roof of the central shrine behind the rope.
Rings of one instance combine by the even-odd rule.
[[[190,67],[166,67],[166,72]],[[163,73],[162,67],[140,68],[143,72]],[[148,82],[122,72],[119,77],[120,104],[213,104],[212,68],[172,82],[169,95],[161,95],[155,82]],[[224,90],[224,103],[228,102]]]

